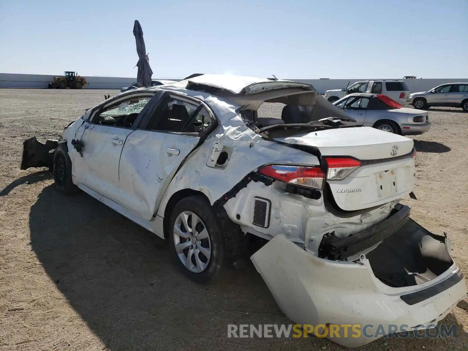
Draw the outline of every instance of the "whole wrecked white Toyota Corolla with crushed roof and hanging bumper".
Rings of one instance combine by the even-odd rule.
[[[263,102],[284,104],[281,116],[258,117]],[[48,166],[60,192],[80,188],[168,238],[198,282],[241,256],[245,234],[267,239],[251,259],[293,322],[391,333],[467,296],[448,238],[398,202],[414,197],[415,154],[311,85],[204,74],[111,97],[58,141],[28,139],[21,168]]]

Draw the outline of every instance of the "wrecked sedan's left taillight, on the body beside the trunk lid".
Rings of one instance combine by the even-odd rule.
[[[325,174],[319,167],[268,165],[261,167],[258,173],[281,182],[314,189],[322,189],[325,178]]]

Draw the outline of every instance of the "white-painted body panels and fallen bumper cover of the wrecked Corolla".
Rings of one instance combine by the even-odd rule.
[[[213,94],[185,89],[194,83],[222,88],[224,92]],[[309,90],[307,94],[292,90],[297,88]],[[313,87],[283,80],[203,75],[171,86],[134,89],[99,106],[107,106],[129,96],[157,96],[170,92],[180,99],[196,99],[213,118],[217,118],[218,127],[201,146],[193,149],[199,137],[127,128],[109,129],[90,124],[87,119],[96,110],[88,110],[63,133],[73,164],[73,183],[147,230],[164,237],[164,217],[168,215],[166,207],[171,197],[181,190],[199,191],[213,205],[241,179],[265,164],[321,164],[316,155],[285,144],[312,146],[322,156],[354,156],[363,161],[387,159],[385,162],[363,164],[342,181],[328,182],[332,196],[343,210],[373,207],[356,215],[338,217],[329,211],[323,196],[313,199],[287,192],[285,183],[279,181],[270,186],[249,182],[234,197],[227,199],[224,208],[229,219],[244,233],[271,240],[252,256],[252,261],[280,308],[294,322],[365,324],[366,321],[397,321],[414,322],[411,324],[414,325],[431,322],[448,313],[466,296],[464,282],[427,300],[427,307],[402,306],[391,295],[395,290],[380,282],[366,260],[360,259],[379,243],[349,257],[349,262],[318,258],[324,235],[333,232],[338,238],[347,238],[373,227],[388,219],[398,199],[413,190],[414,159],[399,158],[411,153],[412,139],[373,128],[352,127],[278,138],[277,141],[284,144],[266,140],[259,131],[249,128],[239,111],[241,105],[258,107],[263,101],[261,96],[271,98],[271,94],[279,94],[281,89],[291,89],[297,94],[294,98],[303,98],[306,105],[313,106],[317,118],[347,117],[319,96]],[[283,98],[277,101],[283,101]],[[84,140],[81,154],[74,149],[73,139]],[[398,153],[391,155],[395,147]],[[229,155],[227,163],[217,165],[213,162],[214,157],[222,151]],[[379,187],[382,191],[378,190]],[[354,188],[363,191],[335,192]],[[256,197],[268,198],[271,202],[267,228],[252,224]],[[437,284],[457,270],[453,263],[450,270],[426,285],[409,286],[403,290],[415,291]],[[395,312],[391,312],[392,308],[396,308]],[[357,346],[370,340],[334,341]]]

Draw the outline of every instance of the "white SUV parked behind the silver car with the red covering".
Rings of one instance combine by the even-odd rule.
[[[373,93],[387,95],[402,105],[409,104],[409,88],[403,80],[363,80],[348,88],[327,90],[324,97],[335,102],[352,93]]]

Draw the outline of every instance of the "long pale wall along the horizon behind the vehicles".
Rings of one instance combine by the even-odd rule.
[[[62,76],[62,74],[57,74]],[[92,77],[86,76],[88,85],[83,89],[120,89],[128,87],[136,78],[122,77]],[[154,78],[157,79],[157,78]],[[348,82],[350,85],[359,80],[364,79],[292,79],[304,83],[313,84],[319,93],[324,94],[329,89],[346,88]],[[15,73],[0,73],[0,88],[47,88],[47,85],[52,81],[52,75],[44,74],[15,74]],[[179,80],[179,79],[174,79]],[[454,79],[406,79],[409,90],[413,92],[427,91],[440,84],[451,82],[468,82],[468,78]]]

